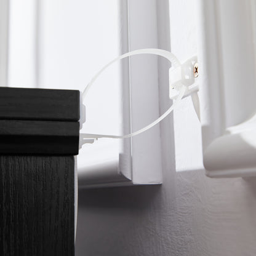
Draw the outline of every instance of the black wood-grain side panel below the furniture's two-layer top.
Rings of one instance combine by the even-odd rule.
[[[73,156],[0,156],[0,255],[74,255]]]

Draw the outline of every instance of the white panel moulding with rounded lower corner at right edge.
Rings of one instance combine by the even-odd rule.
[[[209,177],[256,175],[256,4],[199,1],[204,167]]]

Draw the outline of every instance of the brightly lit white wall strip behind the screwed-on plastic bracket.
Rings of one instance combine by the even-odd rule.
[[[179,9],[182,9],[182,15],[177,11]],[[170,1],[169,11],[170,49],[183,63],[188,58],[198,55],[198,5],[194,1]],[[196,82],[201,90],[200,62]],[[174,110],[174,136],[176,171],[204,169],[201,123],[194,111],[191,97],[184,98]]]

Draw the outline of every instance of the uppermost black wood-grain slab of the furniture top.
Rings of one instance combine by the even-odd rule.
[[[0,87],[0,119],[79,120],[79,90]]]

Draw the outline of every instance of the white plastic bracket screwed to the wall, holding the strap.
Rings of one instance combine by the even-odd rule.
[[[184,97],[191,95],[192,102],[194,105],[194,110],[200,120],[200,108],[199,108],[199,98],[198,90],[199,85],[195,84],[195,79],[198,76],[198,66],[196,63],[198,58],[196,56],[189,58],[180,66],[172,67],[169,70],[169,97],[171,100],[176,100],[180,94],[180,89],[182,86],[186,87],[186,92]],[[196,68],[196,73],[195,69]]]

